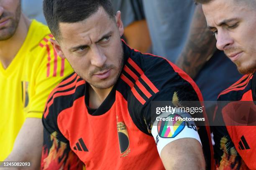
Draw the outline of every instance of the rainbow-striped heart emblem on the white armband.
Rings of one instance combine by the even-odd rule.
[[[158,122],[157,131],[161,138],[174,138],[184,129],[186,122],[179,121],[179,117],[181,116],[178,114],[171,114],[166,117],[169,121]]]

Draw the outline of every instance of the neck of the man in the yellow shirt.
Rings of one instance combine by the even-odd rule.
[[[25,41],[30,24],[31,21],[26,18],[25,15],[21,14],[20,21],[14,35],[8,40],[0,41],[0,62],[5,69],[13,61],[15,55],[18,53],[20,47]]]

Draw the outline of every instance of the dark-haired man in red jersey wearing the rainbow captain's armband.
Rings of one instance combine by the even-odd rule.
[[[198,170],[204,159],[211,168],[209,127],[157,128],[151,117],[152,101],[198,101],[200,90],[168,60],[125,44],[110,0],[44,0],[44,15],[76,73],[46,104],[42,169]]]

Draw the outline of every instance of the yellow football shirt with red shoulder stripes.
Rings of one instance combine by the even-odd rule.
[[[0,161],[10,154],[25,119],[41,118],[51,90],[73,72],[53,50],[51,37],[46,25],[33,20],[7,69],[0,63]]]

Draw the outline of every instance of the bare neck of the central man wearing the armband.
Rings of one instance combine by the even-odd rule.
[[[92,85],[89,85],[89,107],[98,108],[102,102],[108,97],[113,86],[108,89],[97,89]]]

